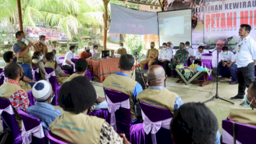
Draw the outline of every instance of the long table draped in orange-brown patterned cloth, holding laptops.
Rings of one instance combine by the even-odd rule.
[[[89,64],[90,72],[98,76],[99,82],[103,82],[106,77],[118,71],[119,60],[120,58],[106,58],[100,60],[87,59],[86,61]]]

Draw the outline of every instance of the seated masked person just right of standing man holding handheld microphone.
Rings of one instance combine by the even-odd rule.
[[[33,57],[32,57],[32,62],[34,62],[34,64],[36,64],[39,68],[39,72],[40,72],[40,80],[44,80],[44,76],[45,76],[45,69],[44,69],[44,63],[42,62],[43,60],[43,55],[41,52],[34,52]]]

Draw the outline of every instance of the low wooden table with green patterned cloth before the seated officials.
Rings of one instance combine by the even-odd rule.
[[[189,84],[192,82],[192,83],[201,84],[201,86],[210,84],[210,82],[208,81],[208,76],[210,76],[212,73],[211,69],[208,69],[205,72],[191,70],[189,68],[180,68],[180,69],[175,68],[175,70],[180,76],[180,80],[178,80],[177,83],[179,83],[180,81],[185,82],[185,84]],[[204,76],[204,81],[203,82],[198,81],[198,79],[201,78],[202,76]]]

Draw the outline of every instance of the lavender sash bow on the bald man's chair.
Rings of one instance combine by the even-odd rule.
[[[170,130],[170,122],[172,121],[172,118],[168,118],[166,120],[160,120],[158,122],[152,122],[141,110],[142,112],[142,118],[144,120],[143,122],[143,129],[146,134],[149,134],[151,131],[151,137],[152,137],[152,144],[156,144],[156,133],[160,128],[165,128]]]

